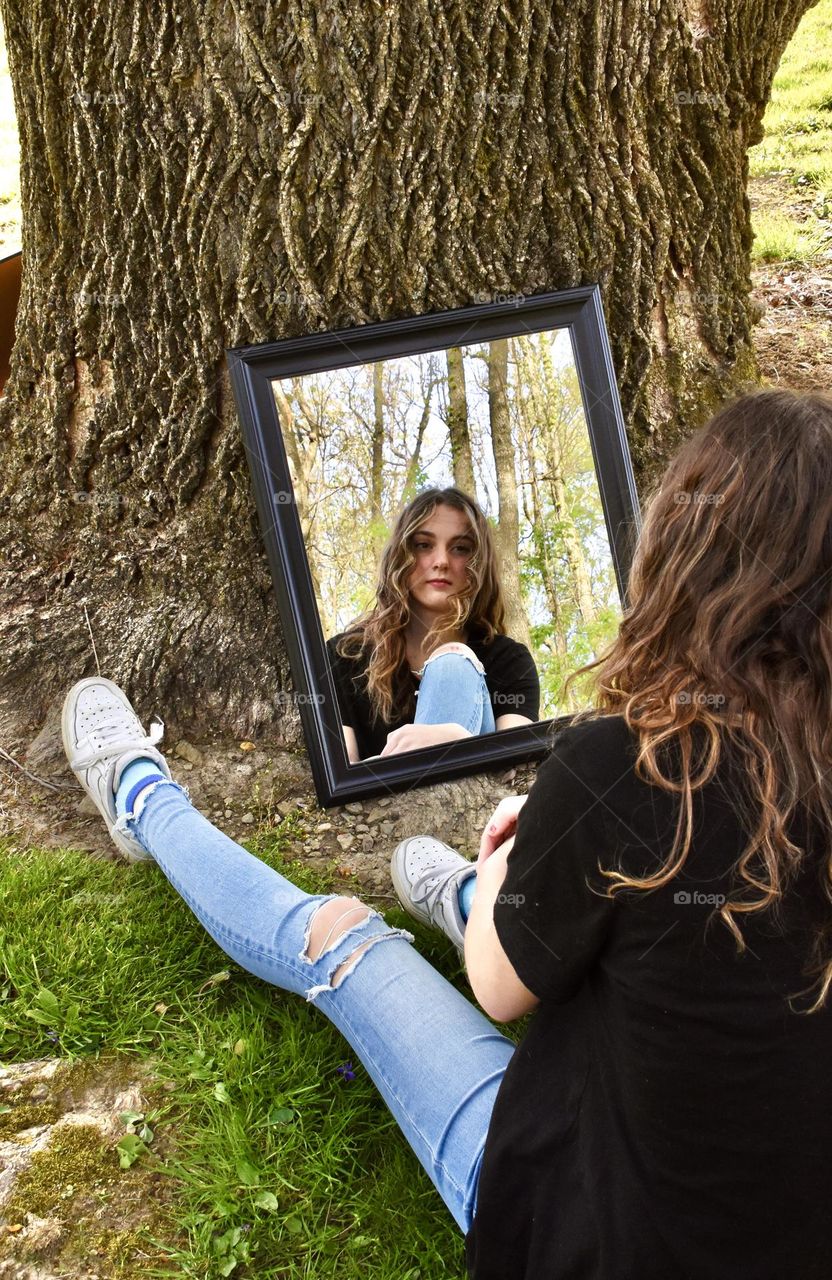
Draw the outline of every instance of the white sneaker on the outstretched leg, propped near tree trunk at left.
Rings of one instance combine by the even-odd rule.
[[[152,859],[152,855],[122,826],[124,819],[119,819],[115,810],[115,792],[127,765],[142,758],[154,760],[159,772],[173,781],[168,762],[156,750],[164,730],[157,721],[146,733],[127,695],[101,676],[79,680],[64,699],[61,732],[69,768],[100,810],[113,841],[131,861]]]

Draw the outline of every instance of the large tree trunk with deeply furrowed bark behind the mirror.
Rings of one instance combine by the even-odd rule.
[[[300,744],[224,348],[600,282],[637,479],[754,371],[746,148],[806,0],[0,0],[23,292],[0,690]],[[55,23],[59,38],[55,38]]]

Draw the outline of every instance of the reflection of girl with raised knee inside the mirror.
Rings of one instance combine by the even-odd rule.
[[[456,486],[403,508],[374,605],[326,649],[351,763],[538,719],[540,681],[506,635],[492,530]]]

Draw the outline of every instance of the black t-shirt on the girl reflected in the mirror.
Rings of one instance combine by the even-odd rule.
[[[335,653],[335,645],[343,637],[340,631],[326,641],[326,653],[332,664],[335,691],[340,703],[342,724],[349,724],[356,733],[358,755],[379,755],[387,746],[387,736],[410,719],[394,717],[392,721],[374,722],[372,708],[367,695],[369,650],[360,658],[342,658]],[[490,694],[494,721],[499,716],[527,716],[536,721],[540,710],[540,678],[529,649],[512,640],[511,636],[493,636],[485,644],[479,635],[470,635],[466,644],[477,655],[485,668],[485,682]],[[410,673],[413,689],[419,687],[419,677]]]

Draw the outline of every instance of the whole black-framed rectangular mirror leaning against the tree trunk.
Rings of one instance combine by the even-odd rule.
[[[598,289],[229,366],[321,804],[543,754],[637,532]]]

